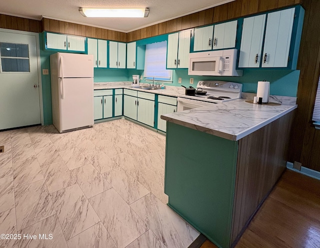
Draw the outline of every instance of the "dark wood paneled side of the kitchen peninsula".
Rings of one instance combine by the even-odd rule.
[[[286,167],[294,113],[289,112],[238,142],[231,243],[245,229]]]

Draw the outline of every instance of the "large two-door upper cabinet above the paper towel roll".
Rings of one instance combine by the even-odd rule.
[[[238,67],[295,69],[303,16],[296,6],[244,18]]]

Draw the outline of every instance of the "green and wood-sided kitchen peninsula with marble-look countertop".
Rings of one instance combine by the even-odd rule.
[[[161,115],[168,205],[230,247],[285,169],[296,107],[237,99]]]

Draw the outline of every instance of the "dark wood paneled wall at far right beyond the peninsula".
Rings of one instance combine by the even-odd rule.
[[[305,8],[297,69],[297,114],[291,135],[289,161],[320,171],[320,130],[312,124],[312,111],[320,73],[320,1],[304,0]]]

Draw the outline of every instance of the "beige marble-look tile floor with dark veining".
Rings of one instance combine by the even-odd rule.
[[[160,133],[117,119],[2,131],[0,145],[0,247],[183,248],[199,235],[166,205]]]

